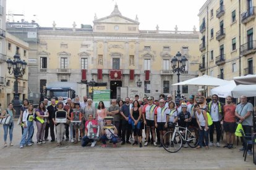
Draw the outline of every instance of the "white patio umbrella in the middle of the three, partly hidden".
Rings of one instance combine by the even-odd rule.
[[[211,95],[216,94],[218,97],[226,98],[228,95],[232,95],[232,90],[236,87],[234,80],[229,81],[228,84],[218,86],[211,89]]]

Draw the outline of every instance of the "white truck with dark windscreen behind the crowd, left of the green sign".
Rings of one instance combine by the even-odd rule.
[[[87,84],[75,82],[53,82],[47,83],[44,91],[44,97],[51,100],[53,97],[63,97],[74,99],[78,95],[80,100],[84,95],[87,95]]]

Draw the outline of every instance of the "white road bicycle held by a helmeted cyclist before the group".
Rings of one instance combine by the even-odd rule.
[[[185,131],[182,132],[181,129],[184,129]],[[174,132],[166,132],[161,139],[161,143],[164,150],[171,153],[178,152],[181,149],[182,144],[186,143],[189,147],[195,148],[198,145],[198,139],[195,133],[195,129],[189,129],[188,127],[181,127],[178,124],[175,124]],[[163,144],[164,137],[166,138],[166,144]]]

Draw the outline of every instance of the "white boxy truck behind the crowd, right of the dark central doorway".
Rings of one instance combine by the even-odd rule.
[[[126,97],[134,99],[138,94],[140,99],[144,97],[144,88],[142,87],[117,87],[117,99],[126,99]]]

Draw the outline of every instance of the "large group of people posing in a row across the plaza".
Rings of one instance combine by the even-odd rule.
[[[166,100],[164,100],[166,99]],[[51,142],[57,140],[57,145],[64,144],[64,136],[66,141],[77,144],[81,140],[81,145],[85,147],[89,143],[94,147],[96,140],[89,136],[91,125],[98,125],[100,128],[100,136],[98,139],[102,142],[102,147],[106,147],[106,141],[110,140],[113,147],[116,147],[117,139],[121,137],[121,145],[131,144],[142,147],[142,133],[145,132],[144,147],[149,144],[155,147],[163,147],[167,145],[167,139],[162,139],[166,131],[174,128],[174,124],[178,123],[181,127],[193,126],[198,131],[197,148],[221,147],[221,123],[223,122],[224,131],[226,132],[226,145],[223,147],[234,148],[234,132],[236,131],[237,122],[242,123],[245,133],[252,133],[252,111],[254,107],[252,103],[247,102],[244,95],[240,98],[240,103],[234,105],[231,96],[226,97],[226,103],[218,100],[218,95],[212,95],[211,100],[207,104],[202,105],[195,102],[195,96],[191,95],[189,100],[179,99],[179,103],[173,101],[172,95],[161,94],[159,99],[154,97],[144,97],[139,99],[139,95],[135,95],[134,100],[126,97],[124,101],[112,99],[109,108],[105,107],[104,102],[99,102],[98,107],[93,107],[92,99],[87,96],[83,97],[83,102],[79,101],[79,97],[67,99],[63,102],[63,98],[51,99],[48,105],[48,99],[40,102],[38,108],[34,109],[33,105],[27,99],[23,100],[20,107],[19,124],[22,129],[22,139],[20,148],[25,145],[33,144],[34,126],[37,127],[36,143],[38,145],[45,144],[49,135]],[[59,122],[56,118],[58,113],[65,113],[67,121]],[[7,133],[9,130],[10,145],[12,144],[12,131],[14,129],[15,110],[12,103],[9,107],[2,111],[0,118],[11,116],[11,123],[4,126],[4,146],[7,146]],[[212,120],[208,124],[208,119]],[[145,129],[145,131],[143,131]],[[216,130],[216,142],[214,142],[213,134]],[[49,133],[50,132],[50,133]],[[210,136],[210,141],[209,141]],[[163,140],[163,142],[161,142]],[[163,144],[163,145],[162,145]],[[187,144],[184,144],[187,147]],[[240,150],[245,149],[245,144]],[[248,154],[252,154],[252,146],[248,147]]]

